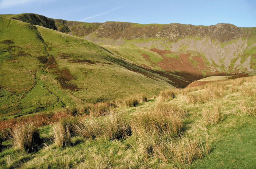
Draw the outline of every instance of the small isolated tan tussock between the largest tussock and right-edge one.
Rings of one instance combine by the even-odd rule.
[[[201,116],[206,125],[218,124],[225,117],[221,111],[221,105],[213,105],[211,109],[204,108]]]

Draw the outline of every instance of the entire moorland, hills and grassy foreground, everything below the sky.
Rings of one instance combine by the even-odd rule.
[[[256,28],[0,15],[1,168],[254,168]]]

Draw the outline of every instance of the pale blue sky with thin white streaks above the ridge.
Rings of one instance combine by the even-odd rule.
[[[0,14],[36,13],[49,18],[83,22],[231,23],[256,27],[255,0],[0,0]]]

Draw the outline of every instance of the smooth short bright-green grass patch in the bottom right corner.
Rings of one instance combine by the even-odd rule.
[[[189,168],[253,168],[255,167],[256,144],[255,121],[243,116],[237,128],[224,126],[218,129],[222,139],[215,144],[212,153],[205,159],[196,160]],[[225,134],[228,133],[228,134]]]

